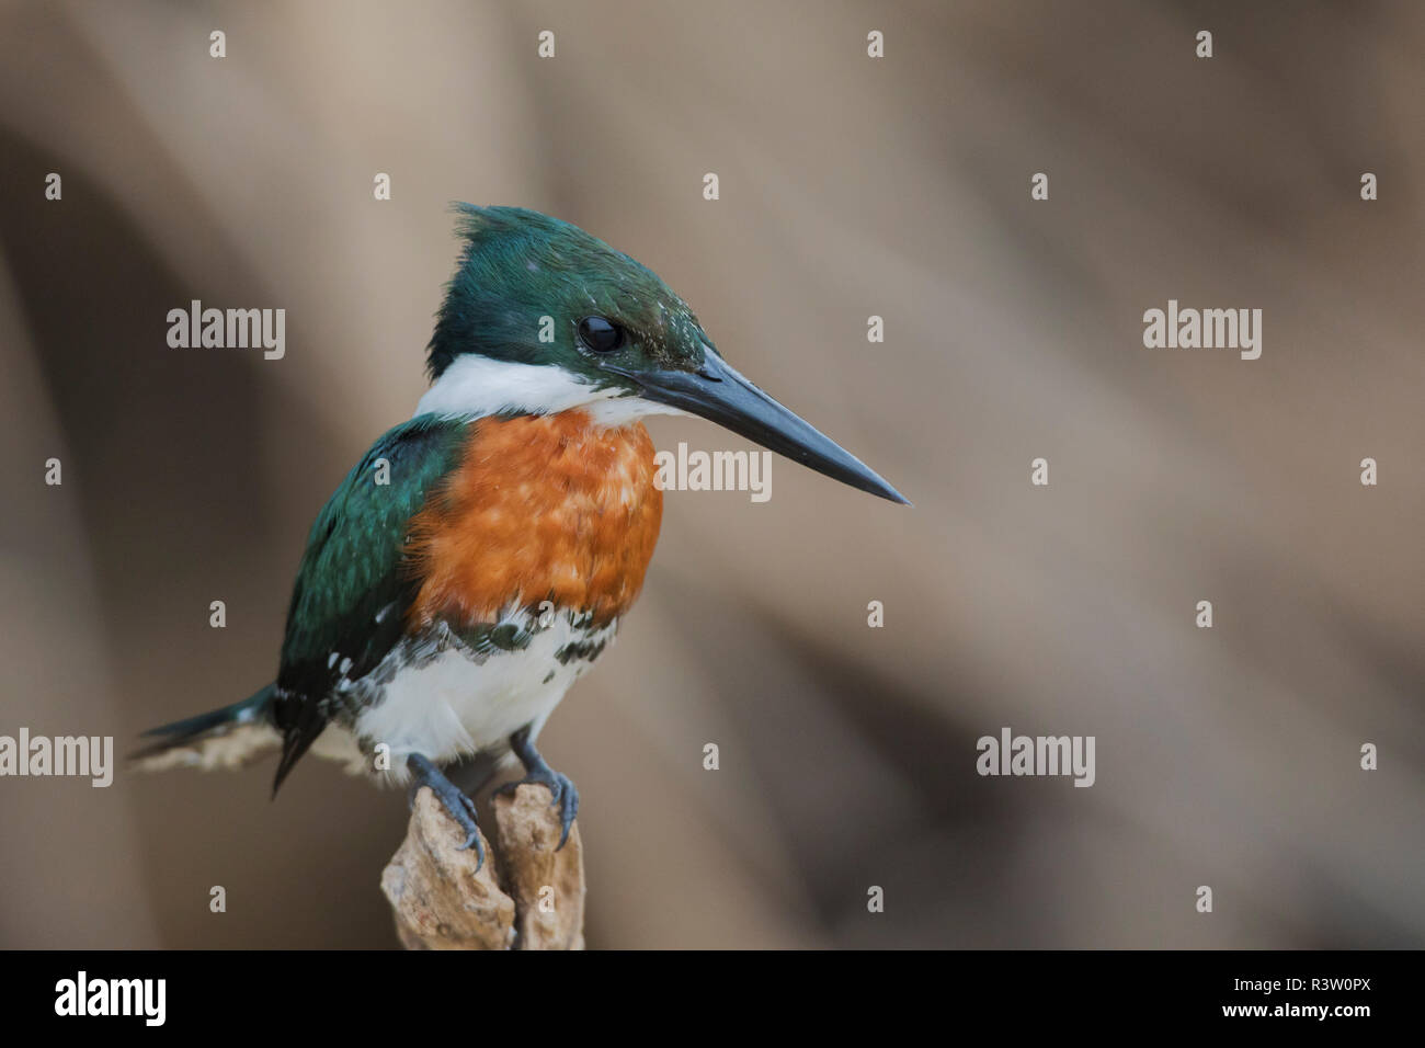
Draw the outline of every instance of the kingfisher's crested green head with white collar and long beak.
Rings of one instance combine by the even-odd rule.
[[[892,502],[859,459],[728,365],[656,272],[557,218],[457,204],[465,248],[428,348],[418,413],[581,408],[597,423],[690,413]]]

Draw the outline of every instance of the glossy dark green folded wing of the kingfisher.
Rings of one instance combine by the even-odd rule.
[[[276,679],[272,716],[284,746],[274,790],[326,727],[336,682],[365,676],[400,640],[419,587],[403,563],[410,518],[459,465],[466,435],[463,423],[433,415],[396,426],[316,516]]]

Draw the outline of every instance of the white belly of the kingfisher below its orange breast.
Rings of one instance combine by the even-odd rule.
[[[406,757],[413,753],[440,764],[506,750],[510,736],[526,724],[533,726],[532,737],[537,736],[570,684],[590,666],[577,657],[560,662],[556,653],[571,642],[611,640],[616,627],[610,623],[591,633],[560,616],[520,650],[493,652],[477,660],[463,646],[446,647],[396,670],[382,697],[356,717],[355,736],[368,753],[380,743],[389,747],[389,776],[395,781],[406,780]],[[355,756],[370,767],[370,759],[355,751],[351,733],[336,724],[312,753],[345,761]]]

